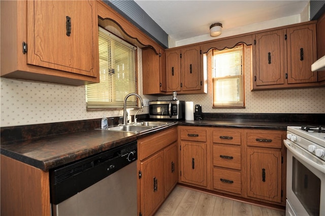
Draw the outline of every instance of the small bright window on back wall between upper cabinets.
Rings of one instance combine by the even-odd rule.
[[[213,107],[244,107],[244,46],[212,50]]]

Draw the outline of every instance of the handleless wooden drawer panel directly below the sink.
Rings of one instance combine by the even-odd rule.
[[[165,148],[169,144],[177,141],[176,128],[168,129],[163,132],[138,140],[138,157],[140,161],[148,158],[153,153]]]

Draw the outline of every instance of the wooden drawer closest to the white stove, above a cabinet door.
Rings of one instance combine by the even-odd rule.
[[[281,148],[282,133],[248,132],[247,133],[247,145],[248,146],[258,146],[258,147],[268,147],[268,148]]]

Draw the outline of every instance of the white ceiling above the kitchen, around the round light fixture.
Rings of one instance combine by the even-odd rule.
[[[212,23],[222,30],[299,15],[309,1],[135,0],[175,41],[209,34]]]

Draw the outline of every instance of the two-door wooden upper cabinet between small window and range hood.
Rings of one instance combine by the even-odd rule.
[[[319,86],[316,23],[294,24],[255,35],[252,90]]]

